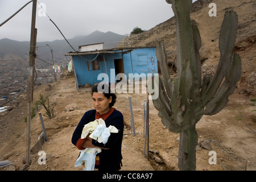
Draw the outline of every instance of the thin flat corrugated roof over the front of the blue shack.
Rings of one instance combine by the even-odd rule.
[[[103,49],[97,51],[85,51],[85,52],[69,52],[65,56],[79,56],[79,55],[95,55],[95,54],[112,54],[112,53],[127,53],[133,51],[129,49],[127,51],[123,51],[123,49]]]

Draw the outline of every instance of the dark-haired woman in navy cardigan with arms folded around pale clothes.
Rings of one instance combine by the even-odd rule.
[[[86,111],[81,118],[79,125],[77,125],[73,136],[72,143],[79,150],[85,148],[101,148],[102,151],[96,156],[96,164],[94,171],[116,171],[121,169],[122,166],[122,139],[123,139],[123,115],[120,111],[114,109],[116,96],[114,93],[110,93],[110,87],[108,84],[99,85],[103,90],[108,92],[98,92],[98,85],[92,88],[92,102],[95,109]],[[108,89],[106,89],[108,87]],[[100,87],[99,87],[100,88]],[[98,143],[96,140],[89,138],[89,135],[85,139],[81,139],[81,133],[84,125],[94,121],[95,119],[102,118],[106,127],[109,125],[115,126],[118,129],[118,133],[112,133],[108,139],[108,142]]]

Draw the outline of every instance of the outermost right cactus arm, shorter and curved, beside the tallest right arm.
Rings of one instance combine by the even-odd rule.
[[[233,94],[236,83],[241,78],[241,69],[241,58],[239,55],[234,54],[224,83],[216,93],[216,96],[205,106],[205,115],[217,114],[228,104],[228,97]]]

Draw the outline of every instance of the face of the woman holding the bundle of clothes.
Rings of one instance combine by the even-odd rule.
[[[93,92],[93,106],[99,114],[108,113],[110,110],[109,103],[112,102],[112,97],[107,98],[104,93]]]

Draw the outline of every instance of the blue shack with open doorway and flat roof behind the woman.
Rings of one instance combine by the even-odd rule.
[[[85,84],[92,86],[100,83],[100,73],[106,73],[112,83],[117,82],[115,76],[118,73],[124,73],[127,78],[129,73],[158,73],[155,47],[69,52],[65,56],[72,56],[77,91],[84,88]]]

